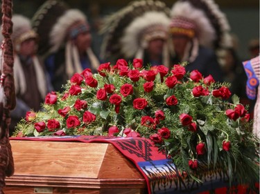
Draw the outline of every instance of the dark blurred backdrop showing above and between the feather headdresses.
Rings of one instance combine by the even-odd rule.
[[[103,17],[119,8],[127,5],[128,0],[67,0],[65,1],[71,8],[78,8],[87,14],[92,24],[92,29],[96,30],[98,23]],[[163,1],[171,8],[175,1]],[[237,51],[241,59],[248,59],[248,43],[251,39],[259,39],[259,0],[215,0],[220,10],[222,10],[229,21],[231,31],[237,37]],[[13,12],[24,14],[26,17],[33,17],[44,0],[13,0]],[[94,31],[94,43],[98,52],[102,39]]]

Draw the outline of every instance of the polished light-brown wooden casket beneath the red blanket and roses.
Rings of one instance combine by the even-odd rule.
[[[146,193],[146,180],[112,144],[10,140],[6,194]]]

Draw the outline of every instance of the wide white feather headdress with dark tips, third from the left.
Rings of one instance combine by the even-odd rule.
[[[135,57],[155,37],[166,39],[170,10],[162,1],[133,1],[105,19],[103,59]],[[114,60],[112,59],[114,58]]]

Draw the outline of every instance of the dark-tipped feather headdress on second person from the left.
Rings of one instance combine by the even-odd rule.
[[[69,9],[67,4],[57,0],[46,1],[35,13],[32,23],[40,35],[40,55],[57,51],[65,42],[71,26],[77,30],[89,30],[87,17],[83,12]],[[83,24],[84,28],[79,23]]]

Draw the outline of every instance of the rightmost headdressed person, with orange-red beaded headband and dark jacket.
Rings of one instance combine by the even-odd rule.
[[[216,53],[231,46],[229,24],[211,0],[179,0],[171,9],[171,62],[187,61],[186,70],[198,70],[223,81]]]

